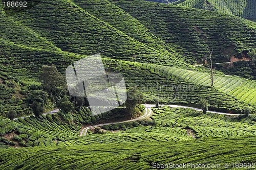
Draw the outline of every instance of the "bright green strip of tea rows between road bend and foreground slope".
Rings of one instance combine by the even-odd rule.
[[[96,143],[129,143],[129,142],[177,142],[193,140],[185,129],[162,127],[135,127],[125,131],[91,134],[66,141],[58,141],[58,146],[72,146]]]

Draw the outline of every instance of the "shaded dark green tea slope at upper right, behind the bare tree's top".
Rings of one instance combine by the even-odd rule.
[[[201,61],[207,46],[213,48],[215,61],[228,61],[232,55],[255,48],[256,23],[243,18],[137,0],[113,3],[166,43],[181,46],[177,51],[191,63]]]

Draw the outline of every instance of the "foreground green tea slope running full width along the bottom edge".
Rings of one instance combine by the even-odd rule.
[[[152,163],[255,162],[255,138],[210,138],[169,143],[92,144],[2,150],[2,169],[152,169]],[[12,155],[10,157],[10,155]],[[33,161],[32,161],[33,159]],[[13,163],[15,162],[15,163]],[[188,168],[191,169],[191,168]],[[232,168],[229,168],[232,169]],[[247,169],[247,168],[241,168]]]

